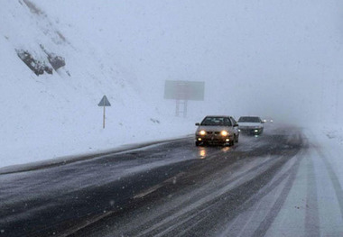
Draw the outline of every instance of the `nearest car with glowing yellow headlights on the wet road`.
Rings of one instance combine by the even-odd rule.
[[[206,116],[195,132],[195,145],[220,144],[233,146],[238,142],[238,123],[231,116]]]

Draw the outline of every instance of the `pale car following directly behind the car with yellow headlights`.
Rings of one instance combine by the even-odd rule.
[[[260,135],[264,132],[264,121],[257,116],[241,116],[238,124],[239,131],[242,133]]]

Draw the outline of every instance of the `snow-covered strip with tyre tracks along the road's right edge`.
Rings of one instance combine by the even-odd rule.
[[[342,146],[320,132],[304,134],[309,149],[298,158],[290,194],[266,236],[343,235]]]

